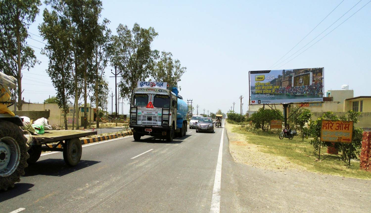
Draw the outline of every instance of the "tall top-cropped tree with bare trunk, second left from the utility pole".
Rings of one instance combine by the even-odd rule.
[[[98,19],[102,11],[102,2],[100,0],[68,0],[66,1],[70,11],[72,21],[76,24],[78,31],[79,54],[82,58],[82,75],[84,82],[84,128],[87,127],[87,87],[88,87],[88,63],[91,60],[94,41],[96,41],[101,30]]]

